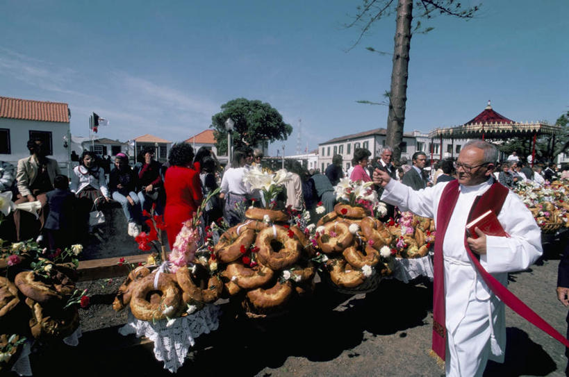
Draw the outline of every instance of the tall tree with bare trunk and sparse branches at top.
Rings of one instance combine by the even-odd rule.
[[[413,26],[413,6],[418,8],[418,16]],[[363,0],[357,7],[354,21],[346,26],[361,26],[361,33],[354,46],[370,31],[379,19],[396,16],[395,47],[393,49],[393,68],[391,69],[391,87],[389,90],[389,112],[387,118],[386,144],[393,148],[393,158],[399,160],[403,142],[403,128],[407,101],[407,78],[409,77],[409,51],[411,36],[414,33],[427,33],[432,28],[422,28],[418,18],[431,18],[436,14],[450,15],[469,19],[474,17],[479,6],[461,8],[461,3],[454,0]],[[369,51],[375,51],[368,48]],[[361,103],[372,103],[360,101]],[[384,103],[377,103],[384,104]]]

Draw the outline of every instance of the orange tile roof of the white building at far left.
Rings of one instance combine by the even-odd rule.
[[[0,97],[0,118],[69,123],[67,103]]]

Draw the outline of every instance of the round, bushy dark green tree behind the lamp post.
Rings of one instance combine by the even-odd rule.
[[[222,105],[222,111],[211,117],[217,151],[227,153],[227,130],[225,122],[233,119],[233,147],[256,146],[264,142],[286,140],[292,126],[283,122],[282,115],[269,103],[245,98],[232,99]]]

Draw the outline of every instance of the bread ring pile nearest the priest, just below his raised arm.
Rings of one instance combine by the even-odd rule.
[[[422,258],[434,245],[435,222],[411,212],[404,212],[404,215],[410,219],[406,226],[401,220],[387,224],[386,228],[392,235],[391,248],[396,251],[397,258]]]

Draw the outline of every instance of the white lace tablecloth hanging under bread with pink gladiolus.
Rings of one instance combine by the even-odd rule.
[[[145,336],[154,342],[154,357],[164,362],[164,369],[175,373],[183,365],[188,349],[195,344],[195,338],[217,330],[219,326],[220,308],[213,304],[186,317],[173,319],[170,326],[167,321],[140,321],[129,312],[126,325],[119,328],[121,335],[136,334]]]

